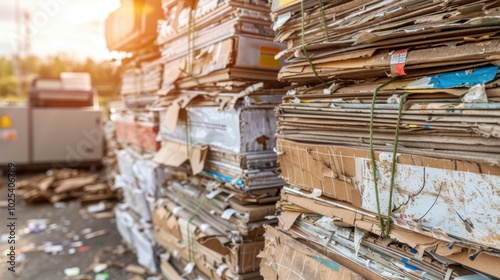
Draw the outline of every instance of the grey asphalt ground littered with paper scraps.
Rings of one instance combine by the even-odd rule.
[[[19,174],[17,180],[20,181],[32,175],[34,174]],[[4,173],[0,179],[0,201],[6,201],[7,199],[7,179]],[[93,271],[88,272],[86,269],[94,262],[96,254],[101,255],[99,252],[104,248],[118,248],[118,250],[115,250],[116,252],[123,247],[122,238],[116,229],[115,219],[95,219],[90,215],[82,214],[81,209],[86,207],[81,207],[77,200],[65,201],[63,204],[56,205],[50,203],[27,204],[21,199],[20,195],[17,195],[15,204],[13,216],[10,215],[8,208],[0,207],[0,235],[4,237],[4,240],[0,241],[0,252],[2,252],[0,256],[0,279],[95,279],[96,273]],[[9,217],[15,217],[16,220],[8,220]],[[30,232],[28,222],[33,222],[30,220],[34,219],[46,219],[47,228]],[[10,237],[9,224],[11,222],[15,222],[15,244],[8,243]],[[82,234],[82,230],[83,233],[85,233],[85,230],[87,232],[108,230],[109,233],[87,240]],[[81,241],[82,244],[73,244],[73,246],[81,246],[72,247],[71,243],[78,241]],[[44,245],[49,247],[50,244],[52,246],[63,245],[63,250],[56,254],[40,251]],[[15,246],[16,272],[9,270],[12,264],[9,264],[10,258],[7,256],[11,251],[10,246]],[[103,254],[100,260],[103,263],[137,264],[135,254],[129,250],[124,254]],[[80,269],[80,275],[88,275],[87,278],[82,276],[80,276],[81,278],[66,278],[65,269],[74,267]],[[114,265],[109,266],[102,273],[107,273],[109,280],[131,279],[137,276]],[[141,277],[146,279],[146,276],[142,275]]]

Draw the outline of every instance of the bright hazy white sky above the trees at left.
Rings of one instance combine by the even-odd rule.
[[[65,53],[80,60],[113,57],[106,48],[104,22],[120,0],[1,0],[0,56],[11,56],[17,49],[16,1],[31,15],[31,54]]]

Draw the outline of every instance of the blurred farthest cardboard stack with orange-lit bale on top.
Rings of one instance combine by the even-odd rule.
[[[147,106],[158,99],[163,77],[154,43],[162,14],[159,0],[123,1],[110,14],[106,30],[108,46],[128,52],[121,61],[121,100],[110,106],[116,140],[113,181],[123,194],[123,201],[115,207],[116,225],[138,263],[154,274],[159,273],[159,248],[153,236],[152,210],[168,175],[152,161],[160,148],[159,115]]]

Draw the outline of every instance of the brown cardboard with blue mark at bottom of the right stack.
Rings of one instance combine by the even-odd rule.
[[[261,273],[266,279],[363,279],[273,227],[266,226],[265,236],[265,249],[259,258],[262,258]]]

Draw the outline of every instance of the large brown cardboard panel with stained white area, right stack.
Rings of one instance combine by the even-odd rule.
[[[310,192],[320,190],[324,196],[377,212],[369,150],[279,139],[277,151],[287,183]],[[382,215],[387,214],[390,156],[392,153],[375,154]],[[494,221],[498,211],[495,201],[500,200],[494,187],[500,185],[495,183],[500,180],[499,167],[408,154],[398,155],[396,167],[393,219],[402,224],[439,228],[457,238],[500,247]],[[464,180],[470,185],[463,183]],[[474,193],[491,194],[486,199]],[[452,202],[460,199],[464,203]],[[482,214],[486,212],[493,215],[490,217],[493,220]],[[474,227],[468,228],[463,219],[468,219]]]

